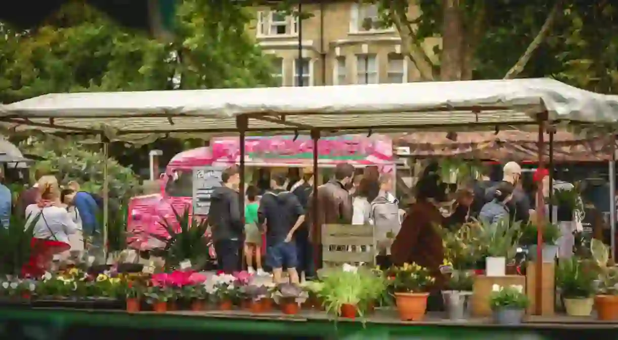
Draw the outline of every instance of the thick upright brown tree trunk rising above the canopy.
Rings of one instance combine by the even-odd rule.
[[[442,55],[440,80],[460,80],[462,77],[462,50],[464,27],[460,0],[442,0],[444,22],[442,23]]]

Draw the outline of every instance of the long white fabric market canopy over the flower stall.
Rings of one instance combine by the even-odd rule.
[[[273,134],[312,128],[325,132],[401,131],[438,127],[536,124],[550,121],[613,124],[618,97],[552,79],[472,80],[328,87],[234,88],[137,92],[54,93],[0,106],[13,132],[106,134],[138,140],[168,134]]]

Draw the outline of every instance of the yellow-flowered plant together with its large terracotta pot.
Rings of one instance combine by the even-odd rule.
[[[403,266],[390,268],[387,278],[392,284],[401,320],[423,320],[427,309],[428,289],[436,281],[430,271],[416,263],[404,263]]]

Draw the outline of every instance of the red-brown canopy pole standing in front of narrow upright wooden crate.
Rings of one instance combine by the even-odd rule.
[[[545,167],[544,151],[545,151],[545,124],[547,121],[547,111],[539,115],[539,170]],[[551,189],[550,189],[551,191]],[[543,314],[543,229],[545,224],[545,202],[543,197],[543,185],[539,183],[536,188],[536,278],[535,278],[535,314]]]

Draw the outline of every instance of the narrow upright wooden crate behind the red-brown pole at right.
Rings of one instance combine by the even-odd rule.
[[[541,289],[543,291],[541,299],[541,308],[543,316],[551,316],[555,313],[556,304],[556,279],[555,279],[555,264],[543,263],[543,281],[541,281]],[[526,294],[530,300],[528,306],[528,314],[536,315],[536,263],[528,262],[526,267]]]

